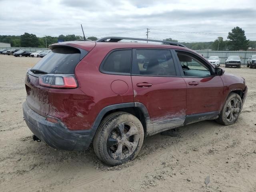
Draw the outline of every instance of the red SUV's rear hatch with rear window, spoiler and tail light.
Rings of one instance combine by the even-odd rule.
[[[57,44],[50,48],[52,52],[44,56],[33,68],[28,69],[25,79],[26,102],[32,110],[42,116],[47,116],[49,112],[49,89],[75,88],[63,86],[61,83],[70,83],[70,77],[75,80],[76,65],[88,54],[86,50],[67,45]],[[53,79],[56,81],[52,84]]]

